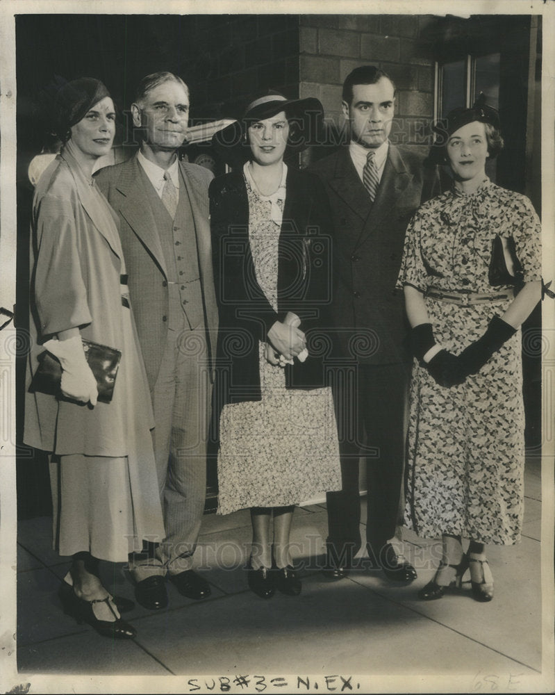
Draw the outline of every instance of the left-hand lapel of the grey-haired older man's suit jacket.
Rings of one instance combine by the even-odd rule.
[[[122,164],[121,173],[115,183],[115,188],[122,194],[117,212],[122,215],[129,227],[133,229],[144,246],[154,256],[160,270],[167,277],[156,219],[147,200],[145,186],[151,184],[148,179],[146,181],[144,179],[147,179],[147,174],[142,171],[136,155]],[[157,195],[156,191],[154,193]]]

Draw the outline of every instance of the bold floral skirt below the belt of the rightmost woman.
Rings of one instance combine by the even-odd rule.
[[[486,330],[496,304],[426,299],[436,341],[454,354]],[[485,366],[450,389],[415,361],[406,464],[406,525],[483,543],[520,540],[524,507],[524,404],[520,331]]]

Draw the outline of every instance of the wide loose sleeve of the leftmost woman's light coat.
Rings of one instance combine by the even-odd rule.
[[[83,281],[74,211],[69,201],[45,195],[35,206],[34,299],[40,334],[92,321]]]

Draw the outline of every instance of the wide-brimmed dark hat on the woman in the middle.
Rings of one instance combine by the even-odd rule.
[[[285,111],[292,126],[285,156],[301,152],[308,145],[318,142],[324,127],[324,107],[320,101],[315,97],[287,99],[280,92],[270,90],[251,101],[240,120],[214,134],[212,144],[215,152],[232,167],[243,165],[251,156],[247,139],[249,125],[271,118],[281,111]]]

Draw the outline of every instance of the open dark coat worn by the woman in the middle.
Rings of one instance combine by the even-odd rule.
[[[292,389],[326,384],[331,352],[331,213],[319,179],[288,168],[279,238],[278,307],[274,311],[256,281],[249,245],[249,201],[242,172],[210,185],[210,221],[219,311],[217,374],[219,407],[260,400],[258,341],[288,311],[301,318],[309,357],[285,366]]]

